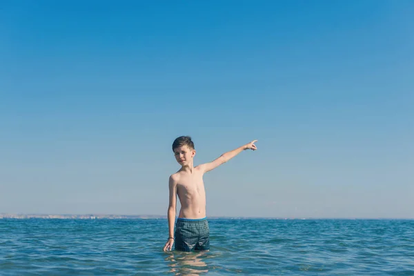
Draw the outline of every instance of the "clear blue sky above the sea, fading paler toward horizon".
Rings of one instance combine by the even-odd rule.
[[[1,1],[0,213],[414,214],[413,1]]]

